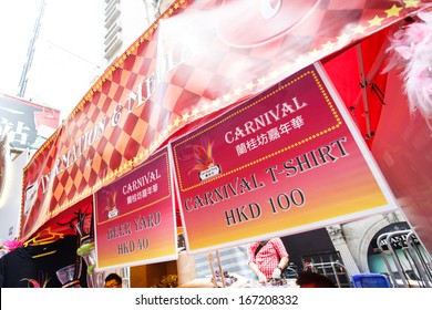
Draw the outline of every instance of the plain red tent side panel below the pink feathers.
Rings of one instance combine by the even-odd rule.
[[[432,122],[410,113],[400,72],[388,74],[385,106],[371,152],[422,245],[432,252]]]

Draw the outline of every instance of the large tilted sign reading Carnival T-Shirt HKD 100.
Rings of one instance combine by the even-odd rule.
[[[395,208],[319,65],[172,142],[191,252]]]

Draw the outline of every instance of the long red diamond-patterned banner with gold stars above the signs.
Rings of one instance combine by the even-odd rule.
[[[25,167],[21,239],[206,117],[429,2],[174,1]]]

